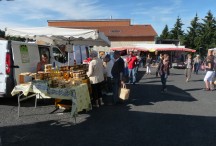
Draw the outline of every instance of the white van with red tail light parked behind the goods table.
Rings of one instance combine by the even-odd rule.
[[[67,56],[56,46],[0,40],[0,97],[11,97],[22,72],[36,72],[42,54],[53,66],[67,65]]]

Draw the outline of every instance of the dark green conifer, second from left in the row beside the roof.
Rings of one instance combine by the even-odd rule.
[[[174,28],[170,31],[171,39],[181,39],[184,37],[184,31],[182,30],[182,26],[184,24],[181,22],[181,18],[177,18],[176,23],[174,24]]]

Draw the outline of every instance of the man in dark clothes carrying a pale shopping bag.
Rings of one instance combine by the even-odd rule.
[[[119,102],[119,89],[120,85],[124,84],[124,60],[120,57],[120,52],[114,52],[114,65],[112,67],[111,73],[113,76],[113,101],[114,104]]]

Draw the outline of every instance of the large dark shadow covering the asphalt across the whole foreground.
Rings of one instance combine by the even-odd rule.
[[[68,115],[69,116],[69,115]],[[216,117],[130,111],[104,106],[70,119],[1,127],[3,146],[213,146]]]

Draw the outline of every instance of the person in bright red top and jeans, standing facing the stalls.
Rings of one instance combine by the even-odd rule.
[[[137,57],[134,55],[133,51],[130,51],[130,55],[126,59],[128,64],[128,83],[135,84],[136,82],[136,63],[137,63]]]

